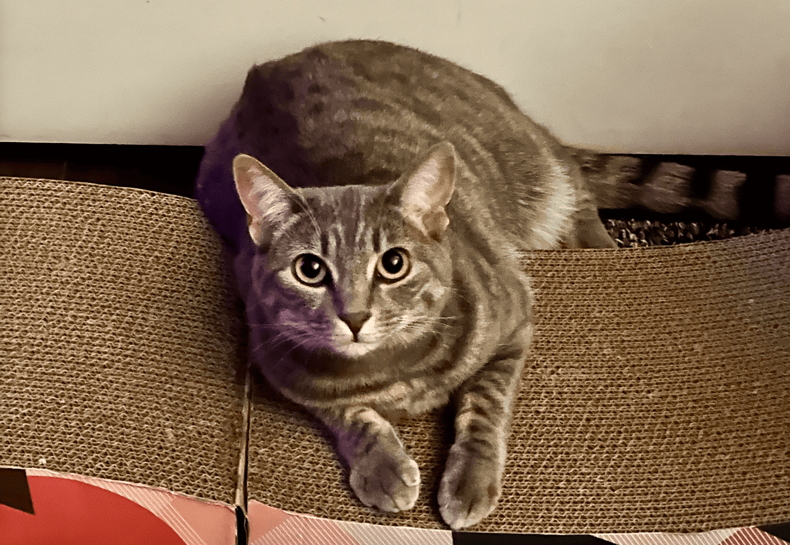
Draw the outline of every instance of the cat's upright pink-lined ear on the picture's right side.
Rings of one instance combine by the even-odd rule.
[[[455,189],[456,162],[450,142],[434,145],[390,193],[408,220],[431,239],[441,239],[450,224],[446,206]]]

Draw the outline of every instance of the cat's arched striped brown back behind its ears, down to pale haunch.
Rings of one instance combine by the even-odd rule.
[[[235,127],[240,152],[302,187],[392,182],[450,141],[456,208],[531,247],[554,246],[574,208],[562,146],[543,127],[486,77],[411,47],[332,42],[255,66]]]

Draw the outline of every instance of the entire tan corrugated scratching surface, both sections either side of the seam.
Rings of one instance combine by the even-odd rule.
[[[488,532],[790,520],[790,230],[531,254],[536,336]],[[417,506],[371,513],[322,430],[258,379],[190,199],[0,178],[0,460],[339,521],[446,528],[450,412],[399,427]],[[239,485],[239,486],[237,486]]]

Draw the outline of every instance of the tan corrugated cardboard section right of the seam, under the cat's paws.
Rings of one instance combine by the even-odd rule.
[[[536,252],[536,337],[490,532],[690,532],[790,519],[790,231],[650,249]],[[443,528],[452,421],[402,424],[417,505],[378,517],[320,429],[254,399],[250,499]],[[444,425],[442,426],[442,418]]]

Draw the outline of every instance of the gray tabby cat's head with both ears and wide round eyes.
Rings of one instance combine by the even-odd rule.
[[[294,189],[247,155],[233,172],[270,272],[253,273],[273,340],[355,359],[442,329],[452,145],[431,148],[384,186]]]

